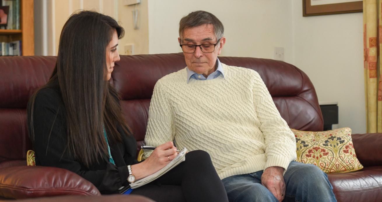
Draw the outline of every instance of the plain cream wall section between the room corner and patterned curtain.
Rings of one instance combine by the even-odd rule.
[[[311,79],[320,102],[338,102],[338,127],[366,132],[362,13],[303,17],[293,2],[292,64]]]

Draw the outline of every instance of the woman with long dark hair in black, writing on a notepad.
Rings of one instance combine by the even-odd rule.
[[[139,180],[177,155],[173,143],[167,142],[145,161],[136,160],[136,141],[123,119],[118,94],[108,82],[114,62],[120,59],[117,45],[123,35],[123,28],[109,16],[93,11],[70,16],[52,76],[28,103],[36,164],[71,170],[101,193],[128,185],[129,171]],[[181,186],[186,201],[228,201],[204,151],[189,152],[185,162],[132,194],[168,201],[156,191],[157,185],[163,185],[160,190]]]

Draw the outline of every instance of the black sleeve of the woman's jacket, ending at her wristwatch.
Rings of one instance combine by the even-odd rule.
[[[68,154],[65,107],[57,91],[42,89],[33,108],[37,165],[70,170],[93,183],[100,192],[114,192],[127,183],[126,166],[117,167],[108,162],[101,166],[104,169],[85,169]]]

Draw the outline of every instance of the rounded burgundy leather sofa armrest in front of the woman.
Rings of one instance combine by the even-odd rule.
[[[24,199],[42,196],[100,196],[89,181],[66,169],[16,166],[0,169],[0,196]]]

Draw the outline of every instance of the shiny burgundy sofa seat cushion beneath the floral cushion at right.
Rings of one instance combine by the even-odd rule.
[[[382,166],[364,167],[351,173],[330,173],[328,177],[338,201],[382,201]]]

